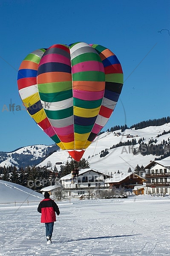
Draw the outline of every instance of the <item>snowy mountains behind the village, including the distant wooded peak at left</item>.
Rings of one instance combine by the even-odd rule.
[[[160,144],[163,140],[168,141],[170,139],[170,133],[158,136],[164,131],[170,131],[170,123],[161,126],[149,126],[138,130],[132,128],[124,132],[121,132],[121,130],[105,132],[96,137],[86,149],[83,157],[89,161],[91,168],[105,171],[106,173],[114,173],[118,170],[126,172],[129,167],[133,170],[137,164],[139,166],[146,166],[156,156],[152,154],[146,156],[141,154],[133,155],[133,149],[135,148],[138,151],[138,140],[143,138],[146,144],[151,139],[154,141],[157,140],[156,145]],[[136,145],[120,146],[110,149],[113,145],[119,144],[120,142],[125,143],[132,139],[136,140]],[[56,149],[57,151],[54,152]],[[109,154],[105,157],[100,157],[101,151],[105,149],[108,149]],[[54,153],[51,154],[52,152]],[[17,149],[11,153],[0,153],[2,153],[0,154],[0,166],[22,166],[22,164],[25,164],[25,166],[49,166],[49,169],[56,167],[58,171],[60,171],[61,164],[65,164],[67,160],[71,159],[67,151],[58,150],[55,145],[32,145]],[[47,157],[48,154],[49,157]]]

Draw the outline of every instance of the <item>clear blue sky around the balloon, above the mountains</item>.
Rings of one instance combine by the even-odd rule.
[[[170,115],[170,35],[158,33],[170,30],[169,0],[0,0],[0,24],[0,151],[53,144],[26,111],[4,110],[22,104],[21,61],[53,44],[101,44],[117,55],[125,82],[104,131]]]

